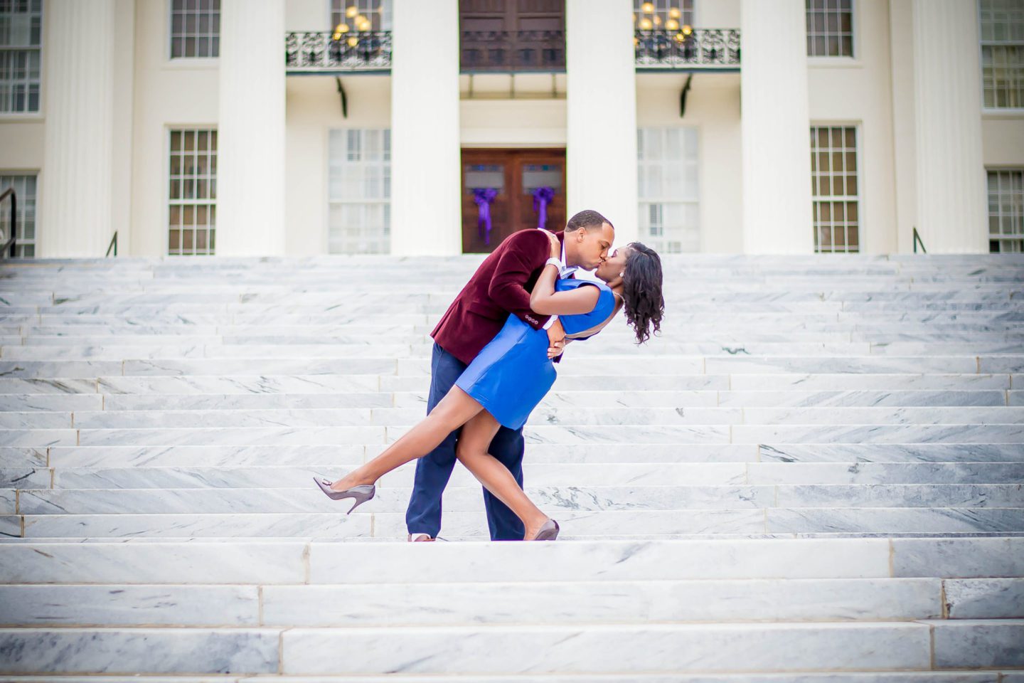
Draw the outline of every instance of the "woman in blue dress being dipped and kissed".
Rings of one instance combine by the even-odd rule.
[[[552,258],[561,255],[558,239],[549,233]],[[337,481],[314,477],[316,485],[333,500],[351,498],[359,505],[374,497],[375,482],[391,470],[422,458],[451,432],[462,427],[456,457],[525,527],[524,541],[554,541],[558,523],[541,512],[516,483],[512,473],[487,454],[490,440],[505,425],[518,429],[530,411],[551,389],[555,370],[549,354],[549,337],[587,339],[626,308],[637,343],[660,329],[665,300],[662,296],[662,260],[640,243],[616,250],[598,266],[600,281],[558,280],[558,267],[544,267],[529,305],[535,312],[559,317],[552,330],[534,330],[509,315],[501,332],[480,351],[460,376],[456,386],[421,423],[366,465]]]

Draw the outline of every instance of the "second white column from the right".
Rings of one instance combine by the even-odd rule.
[[[803,0],[742,0],[743,251],[814,251]]]

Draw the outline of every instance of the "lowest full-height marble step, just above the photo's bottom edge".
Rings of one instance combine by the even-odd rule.
[[[390,628],[3,629],[5,673],[651,673],[1018,667],[1020,620]],[[380,647],[382,641],[388,647]],[[742,648],[738,664],[735,652]]]

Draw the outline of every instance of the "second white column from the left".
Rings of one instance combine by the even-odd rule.
[[[220,3],[218,256],[285,253],[284,0]]]

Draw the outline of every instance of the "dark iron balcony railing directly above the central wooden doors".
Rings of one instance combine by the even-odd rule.
[[[463,31],[464,74],[565,71],[562,31]]]

